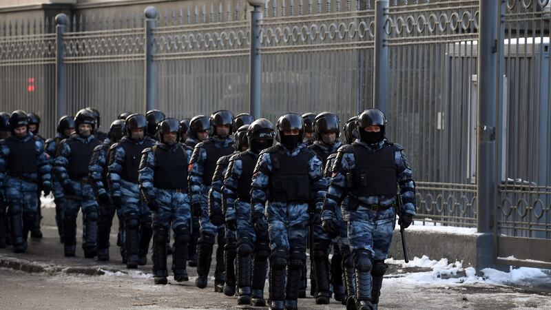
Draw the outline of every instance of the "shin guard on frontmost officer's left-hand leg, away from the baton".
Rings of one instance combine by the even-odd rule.
[[[354,267],[356,273],[356,309],[372,310],[371,303],[371,252],[366,249],[354,251]]]

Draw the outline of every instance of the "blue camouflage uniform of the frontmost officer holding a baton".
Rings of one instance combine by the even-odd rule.
[[[386,272],[384,260],[388,255],[395,226],[396,214],[393,206],[396,203],[396,195],[391,193],[392,189],[388,189],[388,194],[384,195],[366,195],[359,192],[362,189],[357,185],[357,179],[354,179],[353,185],[350,184],[351,179],[355,178],[356,173],[353,172],[359,174],[358,171],[364,169],[366,165],[355,163],[355,152],[362,154],[367,165],[375,162],[376,159],[378,165],[376,169],[387,169],[378,174],[383,179],[372,186],[382,186],[393,183],[395,180],[404,201],[404,212],[412,216],[415,215],[415,183],[403,147],[386,140],[377,143],[374,148],[360,140],[352,145],[345,145],[339,149],[333,165],[331,185],[326,195],[322,218],[333,218],[340,201],[346,193],[349,193],[346,201],[342,202],[342,206],[347,211],[343,212],[343,217],[347,223],[349,244],[355,262],[356,299],[371,300],[373,304],[377,304],[382,276]],[[375,159],[371,159],[372,156]],[[380,158],[390,159],[380,162]],[[388,163],[389,161],[391,162]],[[395,171],[395,176],[389,171]],[[369,176],[368,174],[367,178]],[[355,194],[356,192],[360,194]]]

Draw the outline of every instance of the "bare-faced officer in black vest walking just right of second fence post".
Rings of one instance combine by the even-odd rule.
[[[155,284],[167,284],[167,238],[174,231],[172,271],[177,282],[187,281],[186,259],[191,211],[187,194],[187,165],[191,149],[180,145],[176,118],[160,122],[159,141],[143,151],[139,170],[141,194],[153,213],[153,273]]]

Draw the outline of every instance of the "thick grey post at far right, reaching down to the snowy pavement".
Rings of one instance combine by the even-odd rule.
[[[498,32],[501,1],[480,1],[477,94],[477,271],[495,266],[496,113],[501,91]],[[501,38],[502,39],[502,38]],[[501,53],[501,52],[500,52]]]

